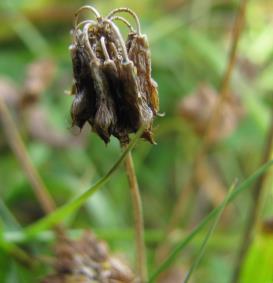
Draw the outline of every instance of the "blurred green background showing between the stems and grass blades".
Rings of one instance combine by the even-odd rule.
[[[214,95],[221,87],[240,2],[0,2],[0,95],[7,102],[33,163],[58,205],[87,189],[120,155],[114,138],[105,146],[88,129],[79,135],[70,127],[72,97],[67,91],[72,85],[72,68],[68,47],[74,12],[83,4],[94,5],[103,15],[117,7],[132,8],[140,17],[142,32],[149,38],[153,77],[159,85],[161,112],[166,115],[155,121],[157,145],[140,141],[133,157],[143,197],[149,269],[153,270],[156,250],[164,240],[173,208],[194,170],[196,153],[202,143],[202,123],[209,115],[206,112],[211,111]],[[227,105],[223,120],[215,129],[201,182],[183,200],[185,209],[170,237],[171,245],[220,204],[235,178],[244,180],[260,165],[272,116],[272,15],[270,0],[247,4],[246,24],[230,84],[230,92],[236,99]],[[30,90],[37,96],[35,102],[21,103],[20,95]],[[198,96],[202,91],[207,98]],[[194,97],[193,101],[189,97]],[[260,223],[240,282],[273,282],[272,227],[267,233],[261,229],[263,221],[273,217],[272,180],[268,174]],[[0,234],[9,232],[7,238],[15,241],[15,231],[43,213],[2,128],[0,196]],[[250,203],[251,191],[248,191],[226,210],[192,282],[230,282]],[[73,231],[92,229],[108,242],[113,253],[122,254],[133,264],[131,211],[127,179],[123,168],[119,168],[106,187],[66,222]],[[179,256],[169,271],[169,279],[166,275],[160,282],[182,282],[205,233],[206,230],[199,234]],[[23,243],[23,247],[36,255],[48,255],[52,253],[52,240],[42,234],[32,242]],[[49,269],[29,271],[0,251],[0,282],[38,282]]]

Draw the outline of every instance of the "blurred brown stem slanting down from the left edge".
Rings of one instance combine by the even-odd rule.
[[[7,141],[20,162],[23,171],[25,172],[32,189],[39,200],[44,212],[50,213],[55,209],[55,203],[48,190],[43,183],[39,173],[32,164],[32,161],[28,155],[25,144],[19,134],[17,126],[13,121],[13,118],[9,112],[8,107],[4,100],[0,97],[0,119],[5,131]]]

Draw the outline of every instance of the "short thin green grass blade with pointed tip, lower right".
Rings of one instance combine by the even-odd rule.
[[[186,276],[186,278],[184,280],[184,283],[188,283],[189,282],[189,280],[190,280],[194,270],[199,265],[203,255],[205,253],[205,249],[207,247],[208,241],[209,241],[210,237],[212,236],[212,234],[213,234],[213,232],[214,232],[214,230],[216,228],[216,225],[218,224],[218,222],[219,222],[219,220],[220,220],[220,218],[222,216],[222,213],[224,212],[224,210],[225,210],[225,208],[226,208],[226,206],[228,204],[228,200],[229,200],[232,192],[234,191],[234,189],[236,187],[236,183],[237,182],[234,182],[234,184],[231,185],[230,189],[228,190],[227,196],[225,197],[223,203],[220,205],[220,209],[219,209],[219,211],[218,211],[218,213],[217,213],[217,215],[215,217],[215,220],[214,220],[212,226],[210,227],[206,237],[204,238],[204,240],[203,240],[203,242],[201,244],[201,247],[200,247],[200,250],[198,252],[198,255],[197,255],[196,259],[194,260],[194,262],[193,262],[193,264],[192,264],[192,266],[191,266],[191,268],[190,268],[190,270],[189,270],[189,272],[188,272],[188,274],[187,274],[187,276]]]

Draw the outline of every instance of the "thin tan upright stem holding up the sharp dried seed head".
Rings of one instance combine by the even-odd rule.
[[[131,152],[128,153],[124,162],[125,162],[125,169],[130,185],[131,198],[132,198],[133,211],[134,211],[137,272],[140,276],[141,283],[144,283],[147,280],[146,252],[145,252],[145,242],[144,242],[144,221],[143,221],[141,196],[139,192],[139,187],[137,183],[137,177],[135,173]]]

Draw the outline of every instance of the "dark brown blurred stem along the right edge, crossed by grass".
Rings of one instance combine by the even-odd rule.
[[[271,124],[266,139],[266,145],[264,147],[261,164],[264,164],[268,160],[270,160],[272,149],[273,149],[273,112],[271,114]],[[252,203],[251,203],[251,207],[249,208],[247,222],[244,228],[240,248],[235,262],[235,269],[231,280],[232,283],[239,282],[245,257],[253,240],[254,230],[255,227],[257,226],[257,222],[260,215],[260,208],[263,200],[266,177],[267,177],[266,173],[262,174],[254,186],[254,190],[252,193]]]

